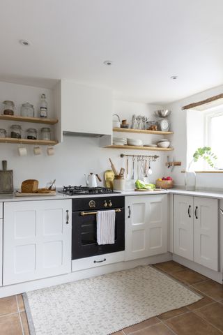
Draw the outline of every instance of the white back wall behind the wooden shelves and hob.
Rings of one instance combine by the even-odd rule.
[[[16,103],[16,114],[20,114],[20,105],[26,101],[33,103],[38,108],[40,94],[47,94],[50,116],[53,117],[52,90],[28,87],[18,84],[0,82],[0,101],[12,100]],[[132,119],[132,114],[142,114],[153,119],[153,111],[159,106],[144,103],[130,103],[125,101],[114,101],[114,113],[119,114],[121,119]],[[37,116],[37,115],[36,115]],[[14,122],[15,124],[15,122]],[[0,128],[8,127],[7,121],[0,121]],[[29,128],[31,124],[22,124],[23,128]],[[32,124],[32,127],[41,125]],[[116,133],[118,136],[119,133]],[[123,133],[120,133],[124,137]],[[131,137],[141,138],[144,144],[155,142],[160,136],[132,134]],[[130,151],[103,149],[99,147],[99,139],[92,137],[64,137],[63,143],[54,147],[55,155],[47,156],[43,147],[43,155],[34,156],[33,146],[26,145],[28,156],[20,157],[17,154],[17,144],[0,144],[0,160],[8,161],[8,169],[14,173],[14,186],[20,187],[24,179],[38,179],[40,186],[45,186],[47,181],[56,178],[56,186],[67,184],[85,184],[84,173],[95,172],[102,177],[105,170],[110,170],[109,160],[111,157],[117,168],[125,168],[125,159],[120,157],[124,154],[158,154],[160,158],[152,163],[153,174],[151,181],[162,177],[164,170],[164,154],[156,151]]]

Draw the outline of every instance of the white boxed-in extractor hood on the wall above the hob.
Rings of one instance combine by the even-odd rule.
[[[112,135],[112,90],[61,80],[61,131],[93,135]]]

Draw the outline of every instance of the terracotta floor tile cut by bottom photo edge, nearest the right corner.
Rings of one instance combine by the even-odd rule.
[[[222,332],[193,312],[176,316],[176,318],[166,320],[165,323],[177,335],[222,335]]]

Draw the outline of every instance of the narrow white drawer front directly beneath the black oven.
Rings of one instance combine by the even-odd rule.
[[[123,260],[125,260],[125,251],[80,258],[79,260],[72,260],[72,271],[91,269],[93,267],[100,267],[102,265],[123,262]]]

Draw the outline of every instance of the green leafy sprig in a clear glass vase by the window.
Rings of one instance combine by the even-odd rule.
[[[185,188],[187,191],[194,191],[196,188],[196,173],[191,170],[192,163],[196,163],[199,158],[203,158],[211,168],[214,168],[214,161],[217,159],[217,156],[213,154],[210,147],[198,148],[194,154],[193,159],[188,165],[188,169],[185,172]]]

